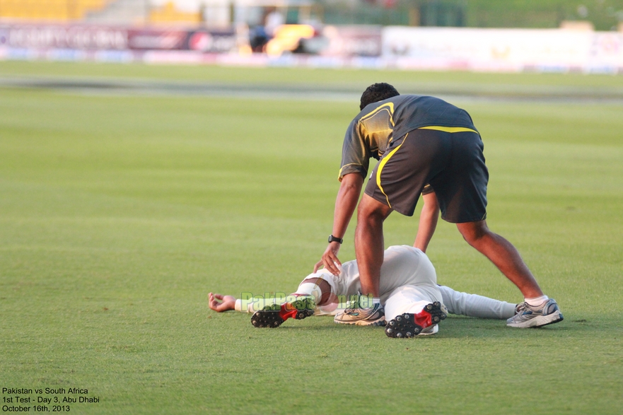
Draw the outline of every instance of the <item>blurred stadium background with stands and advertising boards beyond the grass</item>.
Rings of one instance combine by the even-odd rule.
[[[616,74],[623,1],[0,0],[0,59]]]

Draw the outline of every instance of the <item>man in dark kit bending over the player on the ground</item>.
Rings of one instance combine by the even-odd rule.
[[[400,95],[388,83],[369,86],[361,95],[360,109],[344,138],[333,232],[315,267],[324,264],[339,274],[339,246],[359,201],[369,160],[378,159],[359,202],[355,230],[361,290],[363,295],[373,296],[373,305],[360,305],[344,312],[342,318],[372,323],[384,319],[379,299],[383,221],[392,211],[412,216],[419,194],[428,184],[436,194],[441,218],[456,223],[467,243],[523,293],[525,302],[508,319],[508,325],[540,327],[561,321],[556,301],[543,294],[516,248],[487,227],[489,172],[470,115],[438,98]]]

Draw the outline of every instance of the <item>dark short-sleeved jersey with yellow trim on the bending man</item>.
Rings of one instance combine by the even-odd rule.
[[[409,131],[422,127],[462,127],[476,131],[472,117],[439,98],[398,95],[363,108],[349,125],[342,147],[339,180],[349,173],[368,174],[370,158],[377,160]]]

